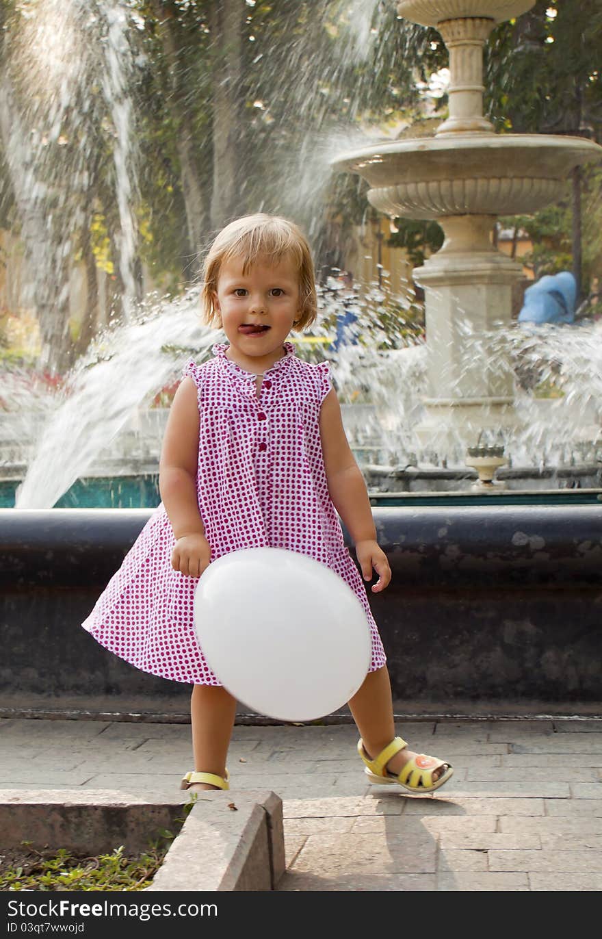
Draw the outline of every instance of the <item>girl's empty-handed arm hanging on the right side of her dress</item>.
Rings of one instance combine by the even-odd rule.
[[[320,438],[332,504],[351,535],[364,579],[372,579],[373,567],[377,571],[378,583],[372,590],[378,593],[391,580],[391,568],[387,556],[378,546],[368,491],[362,471],[351,453],[334,389],[322,402]]]

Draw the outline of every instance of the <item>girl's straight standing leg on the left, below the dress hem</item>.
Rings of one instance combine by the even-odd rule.
[[[197,773],[225,775],[225,759],[236,716],[236,698],[224,687],[194,685],[191,699],[194,770]],[[205,782],[195,782],[189,792],[216,789]]]

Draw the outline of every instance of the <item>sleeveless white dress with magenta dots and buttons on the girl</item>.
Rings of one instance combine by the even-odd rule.
[[[227,348],[213,346],[213,359],[190,362],[183,372],[198,390],[197,495],[211,561],[242,548],[284,547],[326,564],[361,601],[372,633],[369,671],[380,669],[386,661],[382,642],[344,544],[322,458],[319,412],[331,389],[329,363],[303,362],[286,343],[258,396],[256,377],[230,362]],[[176,682],[221,685],[194,631],[198,577],[173,569],[174,545],[160,504],[83,626],[137,669]]]

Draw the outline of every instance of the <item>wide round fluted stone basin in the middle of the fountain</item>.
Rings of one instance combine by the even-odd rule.
[[[602,159],[584,137],[455,133],[362,147],[332,161],[359,173],[387,215],[514,215],[547,206],[574,166]]]

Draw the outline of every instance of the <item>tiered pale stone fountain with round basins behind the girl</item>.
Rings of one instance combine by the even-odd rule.
[[[334,162],[367,180],[379,211],[436,219],[443,228],[440,251],[414,270],[425,293],[428,382],[416,432],[425,446],[456,457],[484,429],[520,426],[513,372],[493,337],[511,323],[522,267],[493,245],[496,217],[543,208],[574,167],[602,158],[602,147],[581,137],[495,133],[483,114],[486,38],[532,7],[533,0],[399,0],[399,14],[437,28],[449,50],[449,116],[433,137],[366,146]]]

